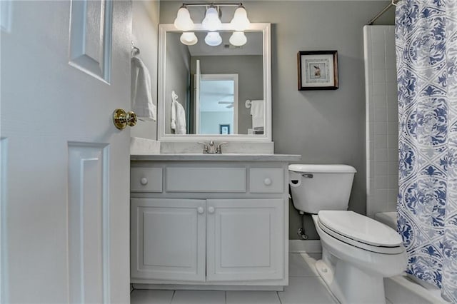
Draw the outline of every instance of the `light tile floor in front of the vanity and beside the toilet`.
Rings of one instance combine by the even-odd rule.
[[[132,304],[306,304],[338,303],[312,267],[320,253],[289,253],[283,291],[133,290]],[[311,266],[310,266],[311,265]]]

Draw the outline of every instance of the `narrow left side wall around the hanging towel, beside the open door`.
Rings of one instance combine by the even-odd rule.
[[[159,1],[133,1],[132,41],[151,75],[151,96],[157,106],[157,52],[159,47]],[[156,121],[138,121],[131,136],[157,138]]]

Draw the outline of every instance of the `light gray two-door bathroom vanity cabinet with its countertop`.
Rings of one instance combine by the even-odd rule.
[[[299,159],[131,156],[131,283],[282,290],[288,284],[288,162]]]

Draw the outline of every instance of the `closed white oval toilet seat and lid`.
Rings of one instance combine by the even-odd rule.
[[[402,253],[401,236],[392,228],[353,211],[319,211],[318,225],[333,238],[375,253]]]

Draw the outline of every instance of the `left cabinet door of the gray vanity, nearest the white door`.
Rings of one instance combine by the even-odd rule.
[[[131,279],[205,280],[205,201],[131,198]]]

